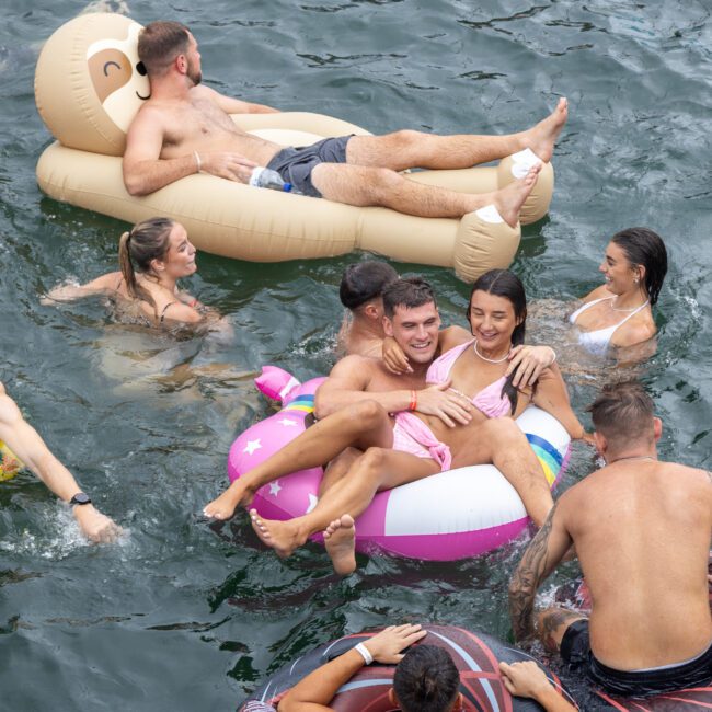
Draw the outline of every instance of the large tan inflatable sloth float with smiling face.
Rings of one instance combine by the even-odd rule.
[[[355,249],[421,264],[453,266],[463,279],[512,263],[520,230],[494,207],[461,220],[417,218],[384,208],[250,187],[213,175],[184,177],[145,197],[122,179],[126,130],[150,88],[138,61],[141,26],[124,15],[85,14],[62,25],[44,46],[35,76],[37,108],[57,139],[37,164],[41,188],[53,198],[127,222],[163,215],[182,222],[195,245],[253,262],[328,257]],[[368,131],[310,113],[236,115],[241,128],[284,146]],[[497,168],[417,171],[409,179],[483,193],[526,172],[530,151]],[[521,211],[521,222],[547,213],[553,170],[544,165]]]

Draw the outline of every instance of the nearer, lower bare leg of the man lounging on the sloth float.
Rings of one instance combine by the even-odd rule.
[[[527,175],[493,193],[457,193],[435,185],[409,181],[390,169],[320,163],[311,180],[328,200],[360,207],[380,206],[422,218],[461,218],[487,205],[494,205],[510,227],[531,193],[541,171],[533,165]]]

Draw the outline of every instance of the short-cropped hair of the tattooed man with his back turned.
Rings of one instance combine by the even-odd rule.
[[[604,386],[587,410],[596,432],[613,445],[653,437],[653,401],[638,381]]]

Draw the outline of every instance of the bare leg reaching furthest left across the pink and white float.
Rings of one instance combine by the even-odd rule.
[[[271,458],[238,478],[203,512],[208,517],[229,519],[239,505],[252,502],[261,486],[285,474],[324,464],[351,446],[365,450],[371,446],[389,448],[392,444],[393,427],[388,413],[375,401],[360,401],[301,433]]]

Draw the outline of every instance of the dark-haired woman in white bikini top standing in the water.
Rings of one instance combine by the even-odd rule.
[[[578,330],[578,343],[602,356],[610,346],[652,338],[657,331],[652,307],[667,273],[667,251],[659,236],[647,228],[618,232],[599,269],[606,284],[587,295],[569,318]]]

